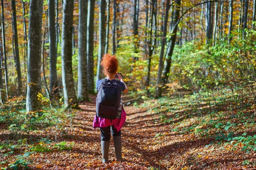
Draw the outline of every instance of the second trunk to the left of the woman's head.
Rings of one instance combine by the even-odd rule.
[[[87,82],[89,94],[94,94],[94,74],[93,74],[93,25],[94,25],[95,0],[88,0],[87,11]]]

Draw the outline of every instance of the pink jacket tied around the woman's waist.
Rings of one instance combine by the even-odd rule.
[[[124,109],[122,109],[121,117],[119,119],[105,119],[105,118],[100,118],[98,116],[94,117],[93,120],[93,128],[96,127],[108,127],[114,125],[116,128],[117,132],[121,130],[121,127],[124,125],[126,120],[126,112]]]

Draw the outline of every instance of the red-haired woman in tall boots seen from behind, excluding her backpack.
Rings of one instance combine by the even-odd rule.
[[[103,73],[107,76],[105,81],[107,82],[117,82],[120,85],[121,91],[125,94],[128,93],[128,88],[125,82],[122,79],[122,76],[117,73],[118,60],[116,56],[105,54],[102,58],[101,65],[103,68]],[[116,75],[118,76],[119,81],[115,79]],[[103,82],[102,79],[97,80],[96,88],[98,90],[100,84]],[[125,115],[124,115],[125,114]],[[101,133],[101,149],[102,149],[102,162],[108,163],[108,150],[109,150],[109,141],[111,134],[113,136],[116,161],[122,161],[122,140],[121,140],[121,130],[119,130],[124,121],[126,113],[122,111],[121,118],[119,119],[104,119],[95,116],[93,121],[93,127],[100,127]]]

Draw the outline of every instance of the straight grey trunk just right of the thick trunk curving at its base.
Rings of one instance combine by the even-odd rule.
[[[78,83],[77,83],[77,99],[79,101],[87,101],[88,85],[87,85],[87,1],[79,0],[79,30],[78,30]]]

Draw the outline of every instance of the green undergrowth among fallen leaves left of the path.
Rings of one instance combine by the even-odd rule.
[[[72,150],[73,143],[59,142],[58,136],[67,134],[75,110],[44,105],[40,111],[26,112],[25,107],[22,96],[0,107],[0,155],[7,160],[0,162],[1,169],[26,169],[33,153]]]

